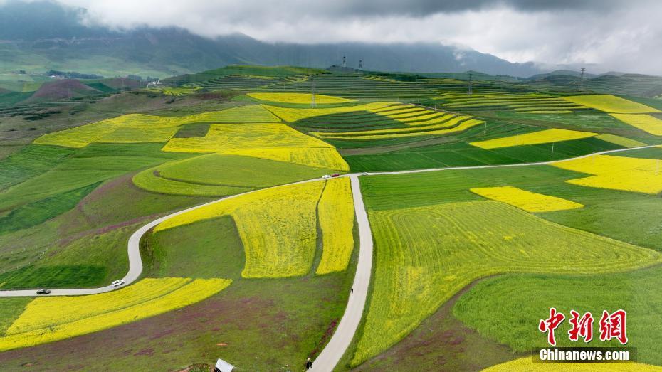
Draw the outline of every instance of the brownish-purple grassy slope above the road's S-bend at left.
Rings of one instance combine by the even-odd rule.
[[[131,176],[107,181],[61,216],[0,235],[0,270],[26,265],[97,265],[105,267],[103,278],[96,282],[81,280],[79,284],[107,283],[125,275],[126,241],[140,225],[166,211],[209,201],[148,193],[133,186]],[[37,287],[43,285],[48,282]]]

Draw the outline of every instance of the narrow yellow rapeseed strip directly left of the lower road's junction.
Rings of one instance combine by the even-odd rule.
[[[327,181],[317,213],[322,229],[319,275],[347,269],[354,249],[354,201],[349,178]]]

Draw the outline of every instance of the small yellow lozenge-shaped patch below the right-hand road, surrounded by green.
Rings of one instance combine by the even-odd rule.
[[[564,211],[584,205],[556,196],[532,193],[513,186],[470,188],[469,191],[484,198],[501,201],[531,213]]]

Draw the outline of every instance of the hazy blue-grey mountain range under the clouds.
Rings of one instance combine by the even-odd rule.
[[[0,67],[75,70],[105,76],[177,75],[228,64],[348,67],[384,71],[463,72],[530,76],[534,63],[510,63],[495,55],[438,43],[266,43],[235,33],[217,38],[182,28],[127,31],[85,26],[85,9],[51,2],[0,5]]]

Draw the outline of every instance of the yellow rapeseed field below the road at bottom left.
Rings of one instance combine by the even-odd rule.
[[[0,337],[0,350],[68,339],[200,302],[230,285],[226,279],[143,279],[83,297],[40,297]]]

